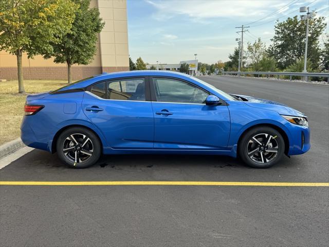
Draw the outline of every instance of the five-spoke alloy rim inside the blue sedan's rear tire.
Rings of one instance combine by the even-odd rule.
[[[71,162],[84,163],[93,156],[94,145],[92,140],[84,134],[70,134],[64,140],[63,152]]]

